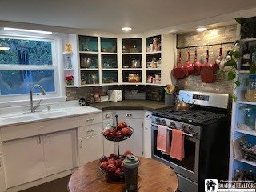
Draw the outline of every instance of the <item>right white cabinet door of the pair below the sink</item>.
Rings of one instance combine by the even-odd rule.
[[[76,130],[66,130],[42,135],[46,175],[70,170],[77,165]]]

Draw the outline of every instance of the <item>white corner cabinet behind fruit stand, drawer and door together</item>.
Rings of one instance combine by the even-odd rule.
[[[126,124],[134,129],[134,133],[130,138],[119,142],[120,154],[126,150],[130,150],[134,155],[143,155],[143,134],[142,134],[142,110],[116,110],[118,122],[126,122]],[[114,123],[115,120],[114,120]]]

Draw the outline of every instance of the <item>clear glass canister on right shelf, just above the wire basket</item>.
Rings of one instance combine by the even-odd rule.
[[[242,110],[243,123],[250,127],[251,130],[255,129],[255,109],[253,106],[240,106],[239,110]]]

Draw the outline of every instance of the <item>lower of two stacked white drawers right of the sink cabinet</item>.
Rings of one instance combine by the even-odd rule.
[[[102,134],[102,123],[78,127],[78,138],[86,138],[95,134]]]

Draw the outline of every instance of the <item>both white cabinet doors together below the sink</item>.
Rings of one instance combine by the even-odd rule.
[[[76,166],[76,130],[2,143],[7,188]]]

